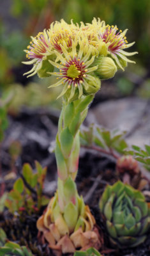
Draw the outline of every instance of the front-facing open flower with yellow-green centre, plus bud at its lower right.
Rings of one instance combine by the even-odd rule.
[[[58,76],[59,81],[56,84],[52,84],[50,87],[55,87],[63,84],[63,91],[59,97],[65,93],[69,93],[68,101],[74,100],[73,97],[77,95],[79,99],[83,94],[93,94],[100,88],[100,79],[94,76],[93,71],[97,69],[96,65],[93,65],[94,56],[91,57],[89,51],[83,56],[84,44],[80,42],[80,50],[77,53],[76,45],[73,42],[71,52],[68,53],[66,48],[61,45],[63,54],[56,52],[57,60],[60,63],[49,61],[54,67],[59,68],[59,72],[49,73],[54,76]],[[93,65],[93,66],[92,66]],[[89,86],[91,90],[89,90]]]

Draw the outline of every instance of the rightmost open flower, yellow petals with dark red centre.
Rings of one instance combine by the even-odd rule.
[[[100,39],[105,42],[105,44],[108,44],[108,51],[110,56],[116,61],[119,68],[124,70],[124,67],[126,67],[127,62],[135,63],[135,61],[131,61],[126,56],[132,56],[134,54],[137,54],[137,52],[126,52],[124,49],[127,49],[131,47],[135,42],[128,44],[128,41],[126,40],[126,31],[128,29],[125,29],[124,31],[120,30],[118,31],[117,26],[105,26],[105,29],[102,28],[99,37]],[[123,63],[125,61],[125,63]]]

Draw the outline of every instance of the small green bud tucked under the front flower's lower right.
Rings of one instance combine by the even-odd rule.
[[[98,92],[98,90],[100,89],[100,86],[101,86],[100,79],[98,77],[93,76],[93,80],[88,81],[88,83],[83,87],[84,95],[91,95]]]

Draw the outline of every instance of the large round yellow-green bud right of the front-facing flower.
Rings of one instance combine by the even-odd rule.
[[[96,65],[98,65],[98,68],[95,73],[101,79],[109,79],[114,77],[115,73],[117,72],[116,64],[109,57],[97,58]]]

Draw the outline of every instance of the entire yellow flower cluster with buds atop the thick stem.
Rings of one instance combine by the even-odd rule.
[[[61,95],[71,100],[82,95],[96,93],[100,79],[113,77],[117,69],[124,70],[131,56],[137,52],[126,52],[128,44],[126,30],[118,31],[117,26],[105,25],[100,19],[92,23],[67,24],[64,20],[54,22],[50,29],[31,37],[26,57],[33,68],[26,74],[40,77],[57,76],[56,84],[63,84]],[[55,70],[54,70],[55,69]]]

